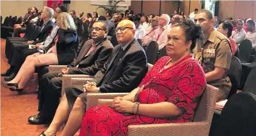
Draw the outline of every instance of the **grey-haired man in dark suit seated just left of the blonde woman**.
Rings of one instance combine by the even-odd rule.
[[[35,46],[38,43],[42,43],[44,40],[46,40],[46,37],[49,35],[49,33],[51,33],[51,29],[54,26],[54,22],[51,21],[53,14],[54,10],[51,9],[50,7],[45,6],[41,16],[44,23],[42,27],[39,28],[40,34],[37,37],[37,39],[35,39],[34,41],[27,41],[27,44],[13,43],[14,50],[11,53],[10,58],[8,59],[8,63],[12,67],[13,71],[12,73],[10,73],[9,77],[5,77],[6,81],[12,80],[18,73],[18,70],[20,70],[22,63],[24,62],[22,51],[29,48],[29,46],[31,47],[31,45]]]

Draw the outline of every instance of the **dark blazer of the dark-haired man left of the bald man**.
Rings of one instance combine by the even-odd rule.
[[[114,47],[110,41],[105,38],[88,56],[85,56],[90,50],[92,42],[92,39],[85,42],[77,58],[67,66],[70,67],[68,74],[95,75],[97,71],[104,66],[104,63],[107,62]],[[78,67],[76,67],[77,65]]]

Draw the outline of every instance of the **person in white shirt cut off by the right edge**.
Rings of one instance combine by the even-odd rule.
[[[253,48],[256,49],[255,21],[254,20],[247,21],[246,28],[248,30],[248,32],[246,33],[246,39],[249,39],[253,44]]]

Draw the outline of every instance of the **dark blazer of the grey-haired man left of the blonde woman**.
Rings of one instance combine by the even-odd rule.
[[[46,40],[46,37],[51,33],[51,29],[54,27],[54,22],[51,20],[47,22],[47,24],[44,26],[42,31],[39,33],[39,36],[37,37],[38,40],[34,40],[33,44],[42,43],[44,40]]]

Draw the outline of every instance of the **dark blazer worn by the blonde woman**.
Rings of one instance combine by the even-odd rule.
[[[57,56],[59,65],[69,65],[76,58],[77,31],[58,29]],[[54,40],[54,39],[53,39]]]

